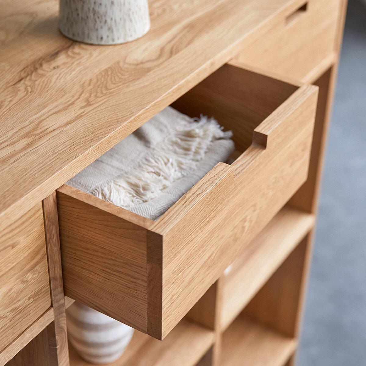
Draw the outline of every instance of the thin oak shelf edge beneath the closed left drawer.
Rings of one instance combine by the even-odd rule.
[[[34,337],[41,333],[53,321],[53,309],[50,307],[36,321],[25,329],[14,341],[0,352],[0,365],[5,365]]]

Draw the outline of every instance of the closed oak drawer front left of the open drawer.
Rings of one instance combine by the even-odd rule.
[[[3,350],[51,306],[42,203],[0,232]]]

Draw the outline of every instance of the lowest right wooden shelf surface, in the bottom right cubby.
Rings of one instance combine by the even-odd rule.
[[[282,366],[297,341],[242,316],[223,336],[220,366]]]

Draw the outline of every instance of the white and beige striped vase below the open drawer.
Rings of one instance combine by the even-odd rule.
[[[134,333],[130,326],[78,302],[66,310],[66,320],[72,346],[85,361],[96,365],[116,361]]]

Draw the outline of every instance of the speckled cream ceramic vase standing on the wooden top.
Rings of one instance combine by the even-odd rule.
[[[60,0],[59,29],[75,41],[109,45],[150,29],[147,0]]]

